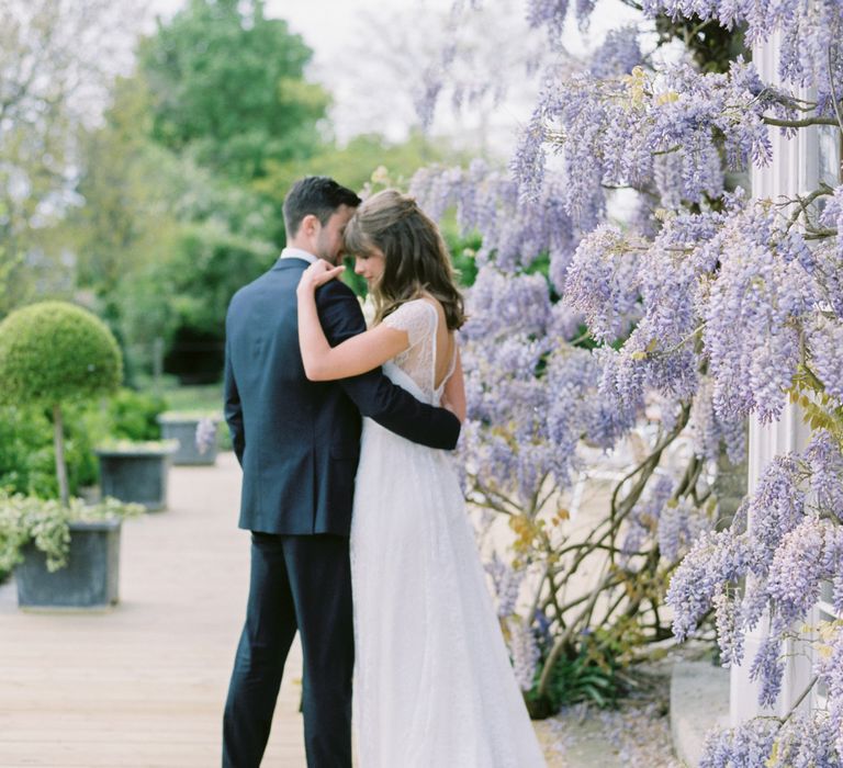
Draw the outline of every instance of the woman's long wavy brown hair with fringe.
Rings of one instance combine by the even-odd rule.
[[[378,248],[385,257],[383,275],[373,287],[375,321],[423,293],[445,309],[450,330],[465,323],[462,295],[439,228],[416,201],[397,190],[383,190],[363,201],[346,225],[346,251],[366,258]]]

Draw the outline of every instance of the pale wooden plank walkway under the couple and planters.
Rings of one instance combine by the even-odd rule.
[[[232,453],[216,467],[175,467],[169,510],[123,526],[112,610],[23,612],[13,585],[0,587],[0,768],[220,765],[248,589],[239,486]],[[266,768],[306,766],[300,678],[296,640]],[[547,725],[537,730],[548,744]]]

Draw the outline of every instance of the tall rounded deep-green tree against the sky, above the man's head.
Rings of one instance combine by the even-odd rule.
[[[235,179],[319,145],[326,92],[304,79],[311,50],[262,0],[190,0],[139,48],[151,91],[151,135]]]

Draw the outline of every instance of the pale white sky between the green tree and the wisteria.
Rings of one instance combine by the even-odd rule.
[[[441,46],[453,0],[267,0],[267,13],[285,19],[314,50],[311,79],[334,97],[331,118],[337,137],[379,132],[400,140],[417,122],[413,104],[420,71]],[[148,0],[150,13],[170,16],[183,0]],[[467,3],[468,4],[468,3]],[[469,35],[476,59],[486,64],[484,77],[494,83],[502,75],[512,81],[506,95],[492,94],[456,111],[443,92],[432,126],[471,146],[508,154],[518,127],[528,118],[538,84],[525,78],[519,52],[541,49],[541,33],[528,30],[526,0],[486,0],[479,34]],[[494,13],[492,12],[494,8]],[[151,18],[151,16],[150,16]],[[566,47],[582,53],[596,45],[607,29],[634,20],[619,0],[599,0],[592,31],[583,38],[573,23]],[[535,43],[525,44],[530,35]],[[515,44],[513,44],[515,42]],[[526,54],[524,54],[526,55]],[[457,68],[458,69],[458,68]],[[468,79],[471,79],[467,75]],[[483,78],[480,78],[482,80]],[[474,78],[477,80],[477,78]]]

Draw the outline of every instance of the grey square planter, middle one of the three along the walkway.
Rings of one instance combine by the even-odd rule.
[[[175,447],[157,451],[97,449],[102,496],[140,504],[148,512],[166,509],[167,481],[175,450]]]

